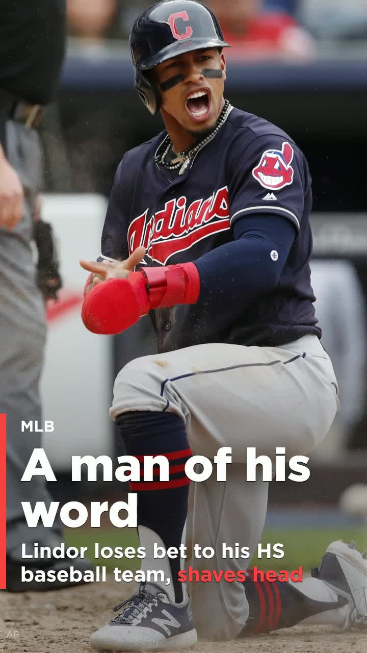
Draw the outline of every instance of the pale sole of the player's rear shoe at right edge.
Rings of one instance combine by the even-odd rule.
[[[327,549],[338,559],[340,567],[347,578],[353,601],[359,616],[367,618],[367,561],[357,549],[351,549],[342,541],[332,542]],[[361,583],[360,575],[364,577]]]

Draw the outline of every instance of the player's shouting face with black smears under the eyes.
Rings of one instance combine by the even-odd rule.
[[[155,67],[162,114],[191,134],[214,127],[223,109],[225,59],[217,48],[186,52]]]

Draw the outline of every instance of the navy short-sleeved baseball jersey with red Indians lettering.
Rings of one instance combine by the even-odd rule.
[[[248,306],[231,296],[152,311],[158,351],[201,343],[276,346],[321,337],[310,284],[311,178],[293,140],[263,118],[232,108],[217,135],[182,175],[157,158],[167,132],[125,153],[116,172],[99,261],[122,261],[138,246],[142,264],[187,263],[234,240],[244,216],[291,221],[295,242],[278,285]],[[276,254],[276,253],[275,253]],[[246,285],[246,279],[233,283]]]

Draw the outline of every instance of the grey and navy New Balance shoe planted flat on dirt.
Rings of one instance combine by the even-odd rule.
[[[154,591],[156,590],[156,591]],[[197,643],[193,615],[187,602],[171,605],[167,594],[157,587],[140,584],[139,591],[114,608],[122,611],[90,637],[98,651],[136,651],[187,648]]]

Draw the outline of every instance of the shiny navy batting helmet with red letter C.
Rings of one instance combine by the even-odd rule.
[[[150,113],[161,106],[159,89],[149,78],[158,63],[201,48],[228,48],[213,12],[195,0],[168,0],[136,18],[129,39],[135,88]]]

